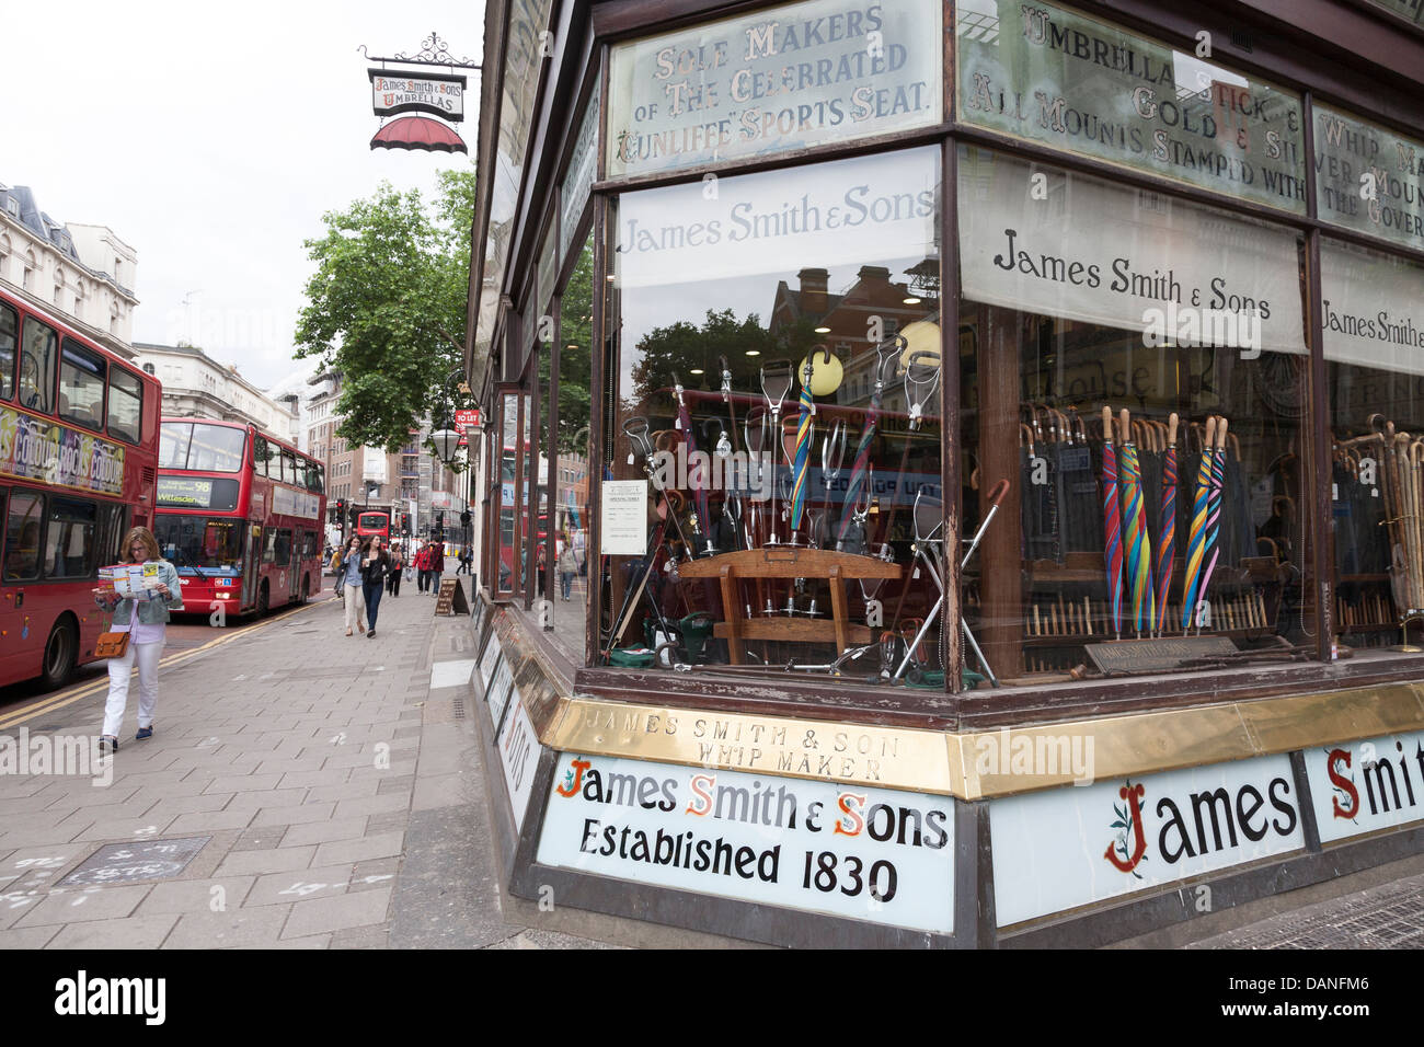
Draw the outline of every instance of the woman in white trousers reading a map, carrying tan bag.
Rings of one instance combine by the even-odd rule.
[[[100,735],[100,751],[118,751],[118,729],[128,708],[128,679],[138,665],[138,732],[135,742],[154,736],[154,705],[158,702],[158,660],[164,652],[164,640],[169,611],[182,610],[182,585],[178,571],[162,558],[158,538],[147,527],[134,527],[124,536],[124,563],[152,564],[157,568],[155,598],[121,597],[117,593],[94,590],[94,603],[112,611],[111,632],[128,634],[124,652],[108,660],[108,701],[104,704],[104,729]]]

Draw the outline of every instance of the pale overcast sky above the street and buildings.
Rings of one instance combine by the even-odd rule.
[[[429,197],[439,170],[473,164],[369,147],[380,118],[357,46],[414,54],[431,30],[480,61],[484,4],[4,4],[0,182],[138,252],[134,340],[201,345],[269,387],[309,366],[292,332],[322,214],[382,179]],[[468,75],[457,130],[473,154]]]

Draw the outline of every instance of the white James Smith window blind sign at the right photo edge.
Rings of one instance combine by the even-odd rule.
[[[1327,360],[1424,375],[1424,268],[1321,238],[1320,299]]]

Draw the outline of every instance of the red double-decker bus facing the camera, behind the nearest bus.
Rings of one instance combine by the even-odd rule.
[[[322,588],[325,519],[316,459],[241,422],[164,419],[154,533],[189,611],[306,603]]]

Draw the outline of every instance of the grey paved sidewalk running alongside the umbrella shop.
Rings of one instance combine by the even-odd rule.
[[[468,624],[433,610],[412,584],[346,638],[323,600],[165,665],[144,742],[135,681],[107,786],[0,775],[0,947],[597,944],[506,919]],[[23,726],[88,738],[103,704]]]

